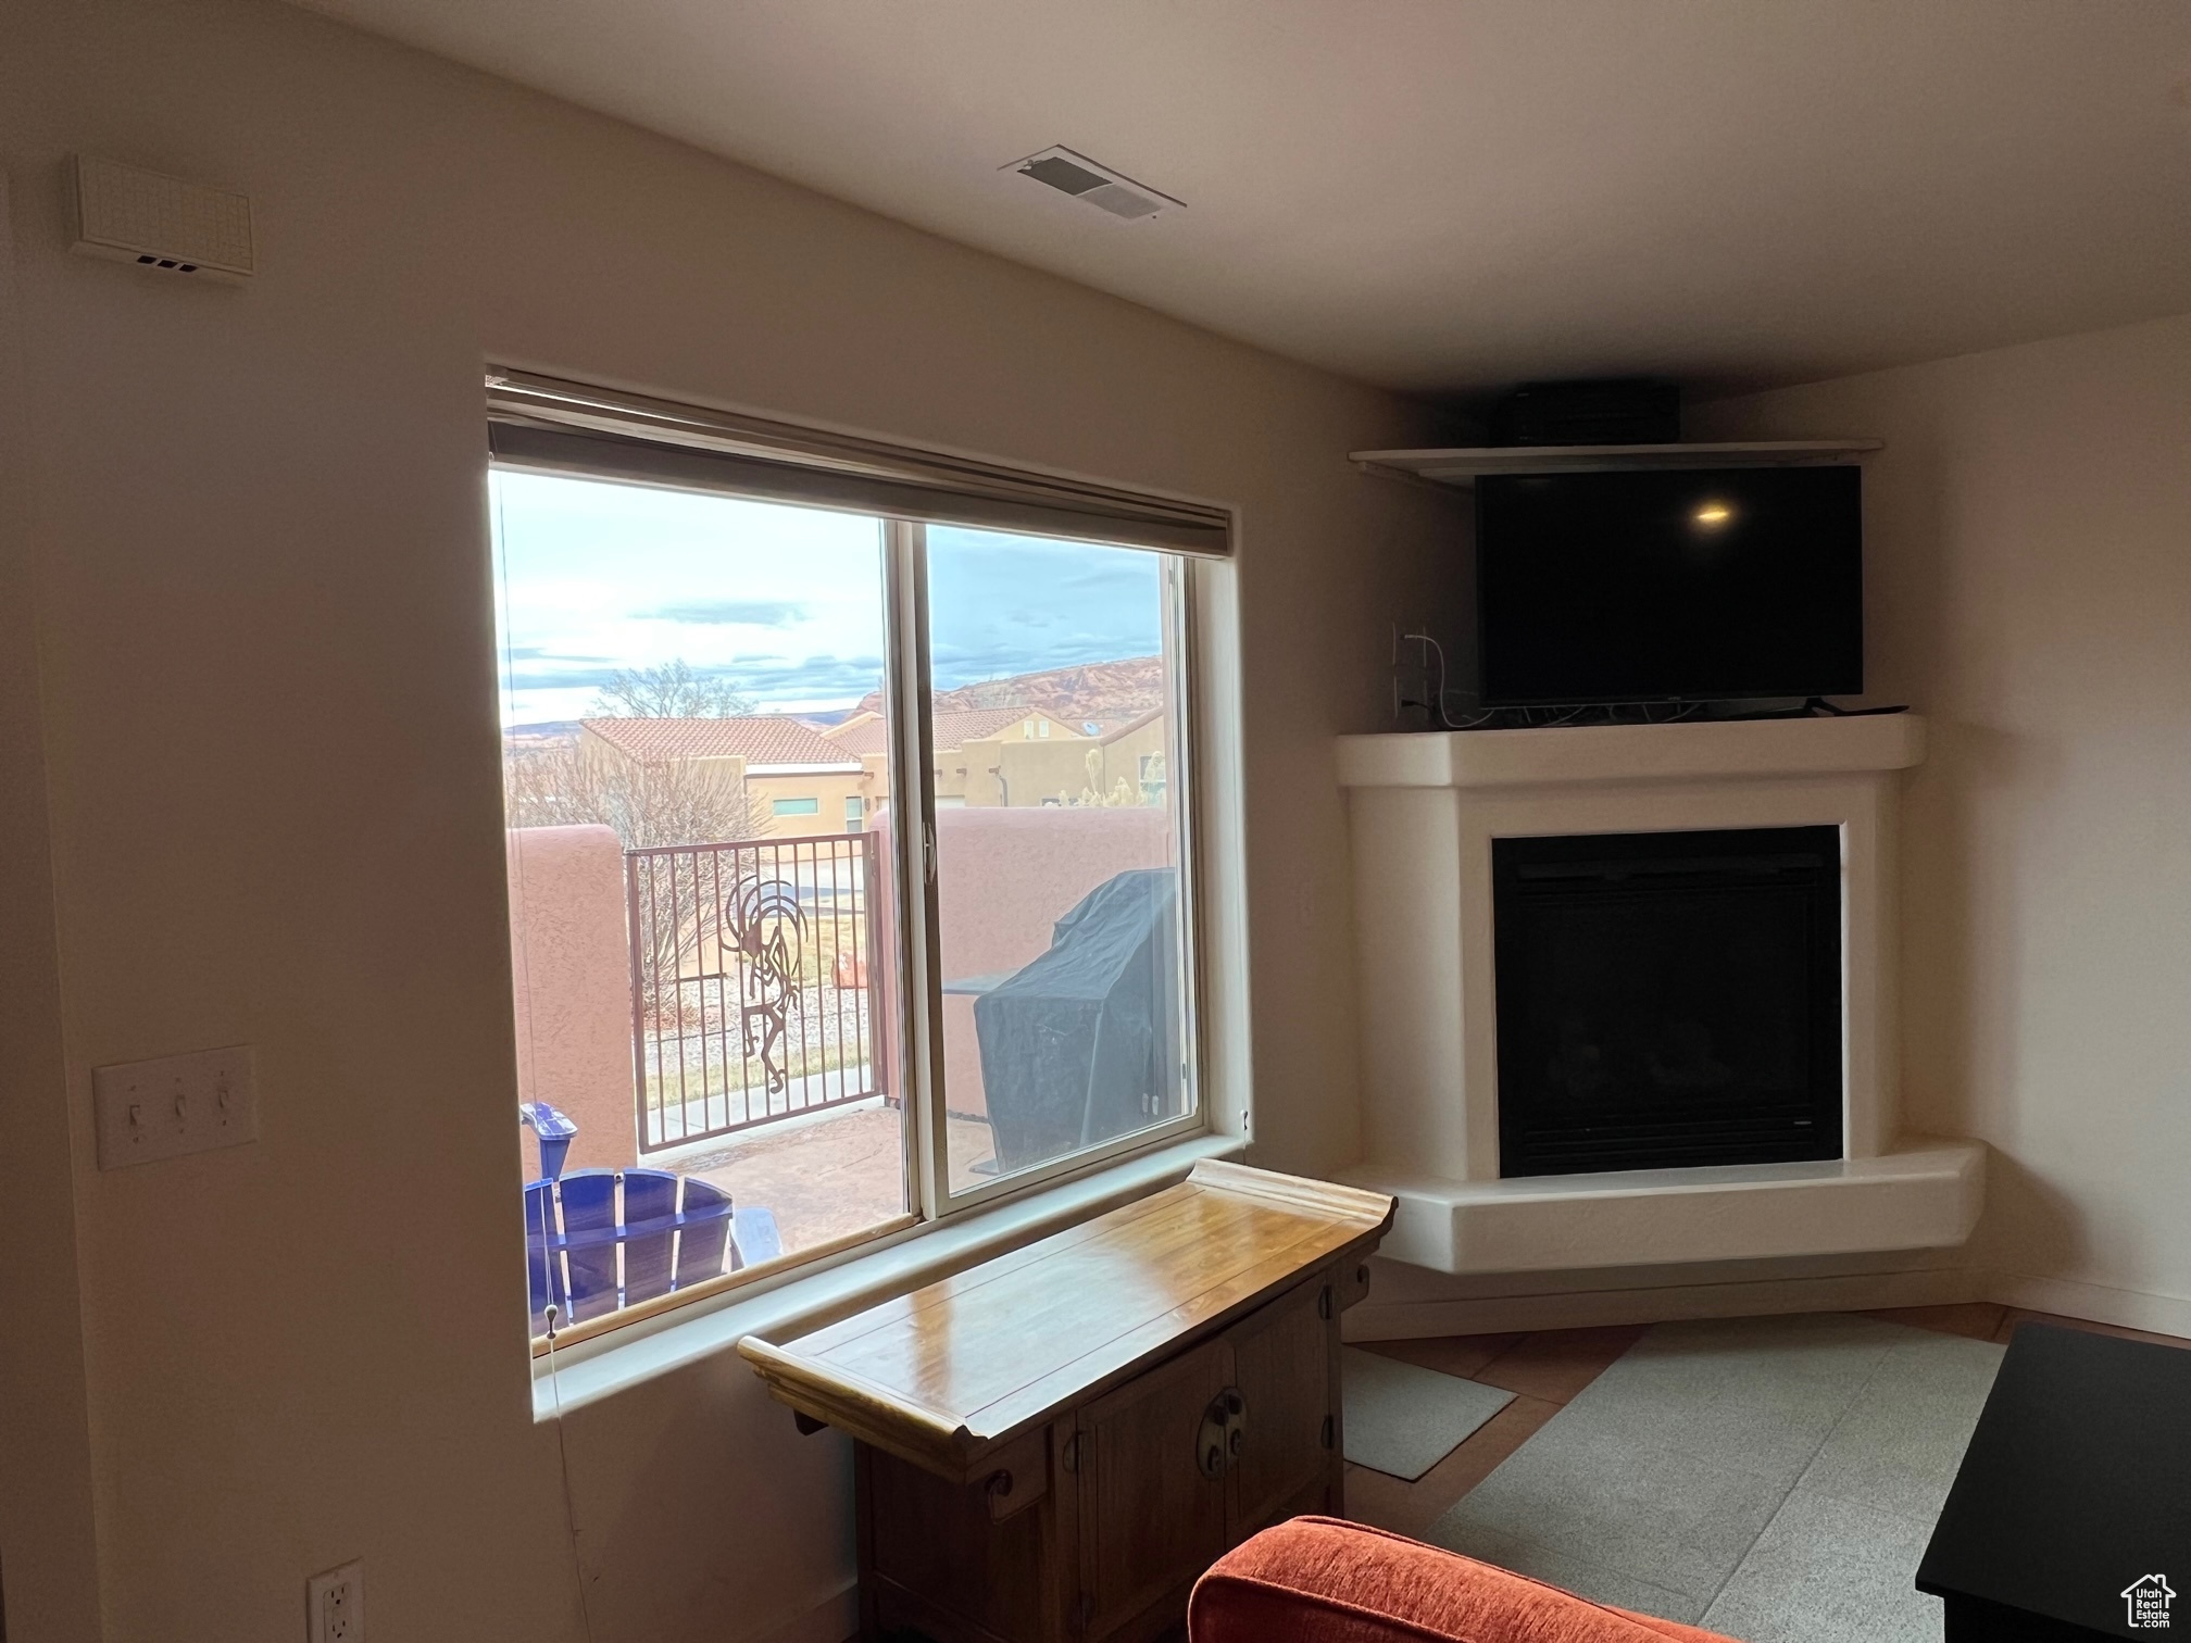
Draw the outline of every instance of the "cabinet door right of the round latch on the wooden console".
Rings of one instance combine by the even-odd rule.
[[[1229,1481],[1229,1538],[1337,1509],[1339,1306],[1328,1275],[1236,1323],[1231,1385],[1247,1404]]]

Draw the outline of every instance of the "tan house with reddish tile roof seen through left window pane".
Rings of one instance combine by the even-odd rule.
[[[581,719],[578,751],[697,765],[741,782],[767,839],[861,832],[887,793],[881,751],[861,756],[791,714]]]

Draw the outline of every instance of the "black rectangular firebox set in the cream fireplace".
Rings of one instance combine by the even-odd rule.
[[[1840,1157],[1840,828],[1492,839],[1499,1174]]]

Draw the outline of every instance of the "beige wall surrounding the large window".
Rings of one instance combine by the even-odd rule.
[[[248,191],[256,283],[70,256],[79,149]],[[11,1588],[85,1549],[88,1470],[110,1639],[287,1636],[353,1555],[377,1634],[576,1639],[567,1459],[598,1639],[828,1623],[848,1452],[741,1365],[589,1406],[567,1457],[532,1422],[480,364],[1240,508],[1198,622],[1244,703],[1212,738],[1282,1168],[1356,1144],[1330,738],[1383,723],[1385,622],[1450,598],[1450,510],[1343,453],[1418,418],[272,0],[18,0],[0,166],[66,1034],[24,1095],[72,1141],[15,1192],[74,1203],[90,1431]],[[90,1067],[223,1043],[256,1146],[92,1170]]]

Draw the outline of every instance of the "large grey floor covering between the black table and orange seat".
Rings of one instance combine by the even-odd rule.
[[[1937,1643],[1911,1575],[2000,1354],[1845,1312],[1661,1323],[1424,1538],[1753,1643]]]

